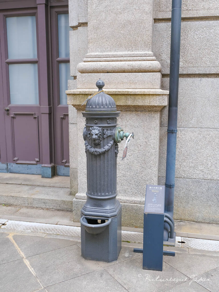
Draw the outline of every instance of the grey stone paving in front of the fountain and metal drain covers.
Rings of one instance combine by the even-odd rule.
[[[79,241],[1,231],[0,291],[219,291],[218,253],[176,248],[175,257],[164,256],[158,272],[142,270],[142,255],[126,245],[116,262],[103,263],[82,258]]]

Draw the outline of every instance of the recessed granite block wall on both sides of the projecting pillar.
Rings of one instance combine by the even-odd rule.
[[[182,7],[174,218],[219,223],[219,11],[215,0],[184,0]],[[154,0],[153,18],[152,51],[162,66],[162,89],[168,90],[171,1]],[[87,1],[69,0],[69,25],[73,28],[70,32],[70,74],[75,76],[75,80],[69,81],[69,90],[77,88],[77,64],[88,51],[87,23]],[[160,184],[165,183],[167,115],[168,107],[164,107],[159,133]],[[138,123],[137,118],[135,122]],[[123,125],[126,126],[125,121]],[[76,194],[77,173],[85,170],[78,168],[77,114],[71,105],[69,135],[71,190]],[[132,161],[135,154],[130,151],[128,155]],[[118,178],[118,183],[119,179],[122,177]],[[142,212],[140,205],[136,206]]]

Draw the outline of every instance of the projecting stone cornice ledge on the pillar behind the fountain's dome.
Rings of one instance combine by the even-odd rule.
[[[96,92],[96,89],[67,90],[67,104],[84,110],[86,105],[81,104]],[[169,94],[161,89],[105,89],[104,92],[112,96],[117,109],[122,111],[160,111],[167,105]]]

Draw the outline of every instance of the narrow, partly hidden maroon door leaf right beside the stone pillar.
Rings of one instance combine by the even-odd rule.
[[[67,83],[69,66],[69,18],[68,7],[51,8],[51,44],[53,79],[53,114],[55,164],[59,175],[69,175],[69,134]]]

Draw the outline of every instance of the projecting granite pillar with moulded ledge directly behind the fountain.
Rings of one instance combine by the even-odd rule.
[[[69,135],[69,141],[77,138],[78,171],[71,176],[78,181],[73,201],[75,221],[79,221],[86,200],[86,155],[81,134],[85,105],[81,104],[96,93],[96,81],[102,79],[105,93],[121,111],[118,125],[135,133],[123,161],[125,142],[119,145],[117,198],[122,204],[122,225],[143,226],[146,184],[158,183],[160,111],[168,102],[168,91],[161,90],[161,65],[152,52],[152,6],[152,0],[136,4],[130,0],[87,2],[88,53],[77,65],[77,88],[66,91],[69,107],[77,110],[77,135],[73,131]]]

